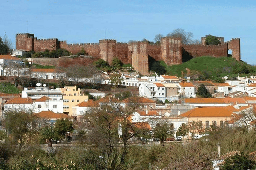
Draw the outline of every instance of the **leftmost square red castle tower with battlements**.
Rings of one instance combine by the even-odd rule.
[[[16,34],[16,49],[23,49],[25,51],[34,50],[34,34]]]

